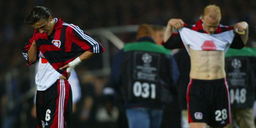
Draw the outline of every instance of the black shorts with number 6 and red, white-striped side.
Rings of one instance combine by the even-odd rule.
[[[72,90],[68,80],[58,79],[45,91],[36,92],[38,128],[71,128]]]

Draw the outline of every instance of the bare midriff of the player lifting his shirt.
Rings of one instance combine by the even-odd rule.
[[[190,78],[214,80],[226,77],[224,51],[198,51],[189,49]]]

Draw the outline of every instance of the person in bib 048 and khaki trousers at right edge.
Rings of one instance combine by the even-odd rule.
[[[256,89],[256,49],[229,49],[225,57],[233,120],[233,124],[228,124],[226,128],[233,128],[235,122],[240,128],[255,128],[253,103]]]

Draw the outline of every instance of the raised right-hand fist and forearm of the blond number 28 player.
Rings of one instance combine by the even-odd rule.
[[[249,25],[245,21],[238,22],[234,26],[234,29],[237,29],[238,32],[244,31],[244,34],[239,34],[244,45],[246,44],[246,42],[248,40],[248,33],[249,33],[248,27],[249,27]]]

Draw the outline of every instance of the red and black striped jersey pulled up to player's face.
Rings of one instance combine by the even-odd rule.
[[[66,69],[59,68],[68,64],[85,51],[93,53],[104,52],[104,48],[99,41],[92,36],[84,33],[78,26],[68,24],[61,19],[54,18],[56,24],[53,27],[52,34],[47,36],[46,33],[41,34],[38,30],[34,30],[34,34],[28,40],[23,48],[23,56],[28,61],[28,50],[35,40],[39,51],[52,65],[52,67],[63,76],[67,77]],[[31,64],[27,63],[27,66]]]

